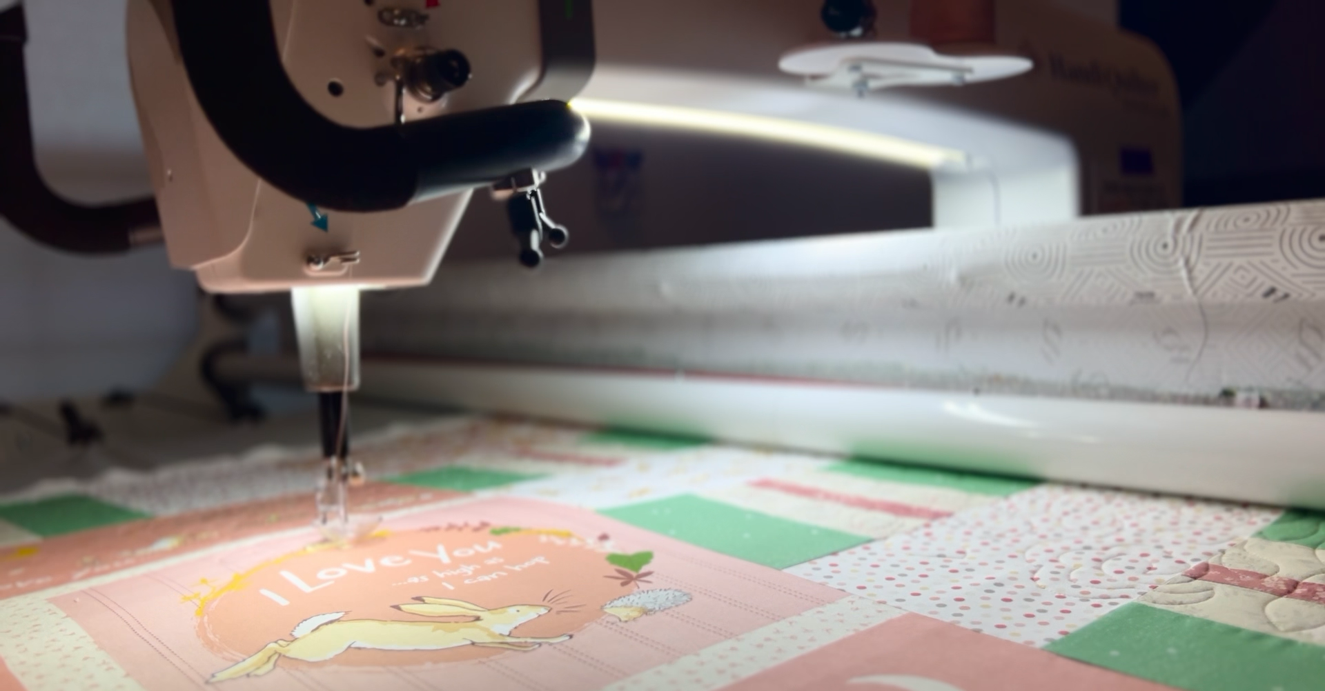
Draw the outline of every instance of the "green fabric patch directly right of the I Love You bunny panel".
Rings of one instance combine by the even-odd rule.
[[[692,494],[608,508],[602,514],[775,569],[871,541],[863,535],[746,511]]]

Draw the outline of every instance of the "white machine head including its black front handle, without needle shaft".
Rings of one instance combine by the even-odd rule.
[[[209,291],[427,283],[470,188],[584,148],[542,101],[583,46],[535,3],[197,5],[130,3],[129,46],[171,262]]]

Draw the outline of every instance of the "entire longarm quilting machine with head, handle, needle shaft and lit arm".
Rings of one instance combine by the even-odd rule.
[[[564,245],[580,113],[920,167],[935,226],[1177,201],[1163,60],[1039,0],[131,0],[129,46],[171,262],[293,291],[329,458],[359,290],[428,283],[474,188],[521,263]]]

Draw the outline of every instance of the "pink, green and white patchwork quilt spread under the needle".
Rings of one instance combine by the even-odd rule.
[[[1325,515],[461,416],[0,498],[0,690],[1325,688]]]

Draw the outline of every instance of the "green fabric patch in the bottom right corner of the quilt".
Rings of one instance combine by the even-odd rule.
[[[1191,691],[1318,691],[1325,647],[1129,602],[1045,650]]]

